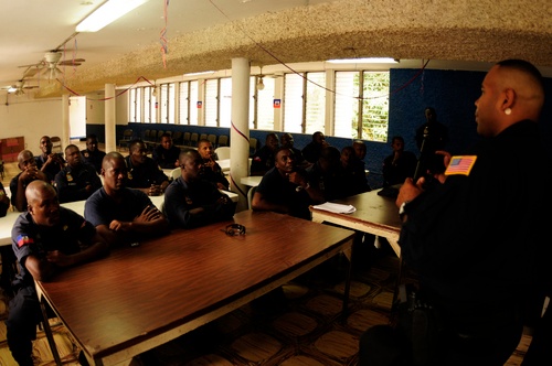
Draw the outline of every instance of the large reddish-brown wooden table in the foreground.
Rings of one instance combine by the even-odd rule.
[[[339,252],[354,233],[270,212],[243,211],[227,236],[212,224],[116,248],[36,282],[88,362],[114,365],[215,320]],[[346,283],[343,310],[349,299]]]

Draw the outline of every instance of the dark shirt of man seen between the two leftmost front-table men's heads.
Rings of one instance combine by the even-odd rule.
[[[87,185],[92,186],[89,191]],[[102,187],[102,180],[92,164],[67,165],[55,175],[55,187],[61,203],[84,201]]]

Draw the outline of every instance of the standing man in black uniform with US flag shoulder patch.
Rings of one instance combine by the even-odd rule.
[[[521,338],[526,301],[550,289],[551,198],[537,189],[552,175],[539,136],[543,104],[533,65],[497,63],[475,103],[481,142],[445,154],[440,184],[408,177],[400,190],[402,255],[443,320],[435,365],[503,365]]]

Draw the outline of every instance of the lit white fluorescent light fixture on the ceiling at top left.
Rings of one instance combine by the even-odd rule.
[[[108,0],[76,26],[76,32],[97,32],[148,0]]]

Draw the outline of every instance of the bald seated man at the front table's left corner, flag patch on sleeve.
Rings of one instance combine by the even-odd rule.
[[[6,326],[8,346],[19,365],[33,365],[32,340],[42,319],[34,280],[47,281],[64,267],[97,259],[108,252],[105,240],[81,215],[60,206],[50,183],[33,181],[26,189],[29,211],[12,230],[19,273],[13,281]]]

